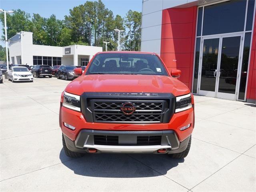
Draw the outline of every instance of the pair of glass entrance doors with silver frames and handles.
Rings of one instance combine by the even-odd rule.
[[[242,36],[203,39],[198,94],[236,99]]]

